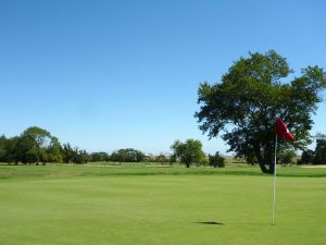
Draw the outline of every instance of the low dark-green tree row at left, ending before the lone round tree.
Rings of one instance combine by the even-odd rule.
[[[87,152],[70,143],[61,145],[50,132],[32,126],[20,136],[0,136],[0,162],[23,164],[87,163],[88,161],[140,162],[145,154],[133,148],[106,152]]]

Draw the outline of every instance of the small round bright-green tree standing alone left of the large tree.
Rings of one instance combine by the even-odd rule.
[[[180,162],[185,163],[187,168],[189,168],[192,162],[200,162],[204,157],[202,144],[197,139],[187,139],[185,143],[175,140],[171,148],[174,155],[180,158]]]

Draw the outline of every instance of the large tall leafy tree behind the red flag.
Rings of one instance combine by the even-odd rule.
[[[303,149],[311,143],[311,115],[326,87],[325,73],[318,66],[308,66],[301,76],[284,83],[290,73],[286,59],[273,50],[240,58],[221,83],[200,85],[201,107],[195,114],[199,128],[210,138],[222,134],[236,157],[253,150],[262,172],[274,173],[275,119],[281,118],[296,137],[292,146],[279,139],[278,150]]]

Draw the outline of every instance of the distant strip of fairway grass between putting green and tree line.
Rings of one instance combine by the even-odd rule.
[[[263,175],[258,166],[248,164],[227,164],[226,168],[214,169],[210,167],[184,166],[159,166],[145,163],[123,163],[122,166],[110,166],[103,163],[91,163],[87,166],[70,164],[48,164],[43,166],[0,166],[1,179],[64,179],[73,176],[106,176],[106,175]],[[300,167],[278,167],[278,176],[306,176],[306,177],[326,177],[325,169],[304,169]]]

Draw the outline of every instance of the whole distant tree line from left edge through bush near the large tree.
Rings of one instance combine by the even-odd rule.
[[[87,162],[161,162],[173,164],[184,163],[187,168],[193,162],[224,167],[224,158],[216,152],[205,156],[200,140],[176,140],[172,145],[173,154],[146,155],[134,148],[125,148],[108,152],[87,152],[85,149],[73,147],[70,143],[61,145],[59,139],[47,130],[32,126],[20,136],[0,136],[0,162],[23,164],[87,163]]]

